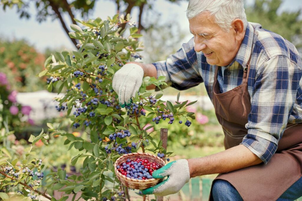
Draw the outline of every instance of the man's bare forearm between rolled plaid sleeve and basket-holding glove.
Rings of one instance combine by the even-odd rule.
[[[225,151],[202,158],[188,159],[190,177],[205,174],[225,173],[262,162],[246,146],[240,144]]]

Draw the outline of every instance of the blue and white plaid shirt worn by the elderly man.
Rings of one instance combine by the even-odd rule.
[[[219,68],[217,80],[222,93],[242,84],[243,67],[251,52],[251,111],[246,124],[248,133],[241,144],[266,164],[276,152],[288,122],[302,123],[302,65],[292,43],[262,29],[260,24],[248,23],[234,61],[226,66],[224,75]],[[204,82],[213,102],[215,65],[208,64],[202,52],[194,51],[193,38],[166,61],[153,64],[157,76],[165,76],[168,85],[178,90]]]

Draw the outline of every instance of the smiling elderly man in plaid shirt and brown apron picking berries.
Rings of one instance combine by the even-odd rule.
[[[114,75],[113,88],[127,104],[143,76],[166,76],[178,90],[204,82],[226,150],[170,162],[153,173],[168,179],[143,194],[165,196],[178,192],[191,177],[221,173],[211,199],[299,198],[302,64],[297,49],[247,22],[242,0],[190,0],[187,17],[194,38],[166,61],[124,65]]]

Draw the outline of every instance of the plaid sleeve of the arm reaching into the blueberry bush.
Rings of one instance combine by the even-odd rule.
[[[194,38],[184,43],[175,54],[166,61],[153,63],[157,77],[165,76],[165,82],[178,90],[185,90],[203,82],[198,71],[197,54],[194,50]]]

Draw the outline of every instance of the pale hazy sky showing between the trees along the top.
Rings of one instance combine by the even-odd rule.
[[[247,4],[251,4],[253,2],[254,0],[246,0]],[[184,40],[191,38],[189,23],[185,14],[187,6],[188,1],[181,1],[178,4],[169,3],[166,0],[154,1],[154,9],[158,13],[161,13],[162,22],[176,20],[181,24],[182,30],[188,35]],[[301,0],[284,0],[281,6],[281,11],[296,11],[299,8],[302,8]],[[16,11],[16,8],[8,8],[6,11],[3,11],[2,6],[0,6],[1,38],[26,39],[40,52],[43,52],[47,47],[51,49],[62,49],[62,47],[69,50],[75,49],[58,19],[54,21],[47,19],[46,22],[38,23],[35,20],[36,11],[33,4],[30,7],[30,11],[33,15],[29,20],[25,18],[20,19]],[[93,15],[90,18],[93,19],[101,17],[102,19],[105,19],[107,16],[113,16],[115,12],[116,6],[113,2],[109,0],[99,0],[97,1]],[[134,10],[132,13],[134,21],[137,20],[137,12],[137,10]],[[148,17],[152,17],[152,15],[149,15]],[[80,16],[76,16],[76,18],[80,19]],[[65,16],[65,19],[67,24],[72,24],[67,16]]]

